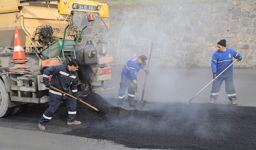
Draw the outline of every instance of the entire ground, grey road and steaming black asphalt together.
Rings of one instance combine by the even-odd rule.
[[[105,82],[105,86],[115,85],[116,89],[99,93],[113,105],[98,97],[98,102],[101,105],[104,104],[102,105],[105,106],[104,110],[108,111],[102,110],[102,114],[97,114],[96,111],[79,104],[77,120],[80,119],[83,122],[81,125],[69,126],[65,120],[67,108],[61,105],[53,119],[47,124],[46,130],[39,131],[38,120],[48,106],[29,105],[30,108],[25,113],[0,118],[0,149],[18,149],[19,141],[24,144],[20,149],[31,149],[29,147],[33,145],[35,149],[41,149],[45,140],[51,138],[54,142],[57,141],[77,149],[90,149],[89,146],[92,145],[95,149],[256,149],[253,132],[256,121],[254,119],[256,70],[234,70],[237,106],[230,105],[225,94],[225,83],[223,83],[216,104],[202,104],[209,102],[210,86],[193,100],[194,107],[187,108],[185,103],[212,80],[211,69],[152,67],[147,78],[144,96],[146,101],[151,102],[146,105],[146,111],[132,110],[127,102],[124,103],[124,108],[128,110],[114,107],[121,71],[122,68],[114,67],[112,80]],[[140,71],[138,74],[139,92],[135,96],[137,100],[141,97],[144,77],[145,73]],[[95,99],[93,97],[87,96],[87,99]],[[101,108],[96,101],[89,102],[99,107],[98,109]],[[29,131],[25,134],[24,130]],[[12,132],[16,135],[11,134]],[[42,134],[44,134],[43,137],[41,137]],[[26,142],[25,137],[28,138]],[[60,139],[55,140],[55,138]],[[67,140],[62,141],[62,138],[67,138]],[[90,142],[82,143],[81,140],[84,139]],[[97,145],[98,140],[95,139],[101,140],[100,146]],[[46,142],[46,149],[61,147],[54,142]],[[67,146],[62,149],[70,148]]]

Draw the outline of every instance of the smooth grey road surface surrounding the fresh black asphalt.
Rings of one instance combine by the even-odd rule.
[[[100,93],[116,106],[119,82],[121,79],[120,67],[113,67],[112,79],[105,82],[105,86],[115,85],[116,89]],[[238,97],[238,106],[256,106],[255,97],[256,70],[234,69],[234,86]],[[145,72],[138,73],[138,93],[135,99],[140,100],[145,78]],[[147,78],[144,100],[154,102],[184,102],[197,94],[212,80],[210,68],[150,68]],[[96,83],[96,85],[99,83]],[[225,93],[225,83],[221,88],[218,104],[230,105]],[[209,102],[211,85],[201,92],[193,102]],[[126,94],[127,98],[127,94]],[[146,106],[146,109],[154,109],[157,103]],[[65,106],[64,106],[65,107]],[[125,104],[125,108],[128,108]],[[0,149],[130,149],[111,141],[95,140],[89,138],[67,136],[60,133],[69,131],[71,127],[58,127],[65,124],[58,120],[58,116],[66,111],[66,108],[58,109],[51,123],[47,125],[48,131],[39,131],[38,120],[45,108],[28,111],[26,114],[18,114],[0,118]],[[8,127],[8,128],[6,128]],[[22,130],[20,130],[22,129]],[[28,131],[29,130],[29,131]],[[52,131],[52,132],[51,132]],[[47,133],[51,132],[51,133]]]

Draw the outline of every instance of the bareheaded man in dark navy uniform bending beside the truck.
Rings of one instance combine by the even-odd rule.
[[[76,121],[76,108],[77,102],[80,100],[77,91],[77,69],[80,66],[80,62],[76,59],[72,59],[69,64],[62,64],[49,67],[44,70],[43,83],[45,87],[49,88],[49,108],[44,112],[41,120],[39,120],[39,129],[45,130],[45,125],[52,119],[55,111],[63,101],[68,107],[68,125],[79,125],[80,121]],[[52,76],[51,82],[49,83],[49,77]],[[60,93],[50,86],[55,87],[61,91],[64,91],[78,99],[75,100],[67,96],[66,94]]]

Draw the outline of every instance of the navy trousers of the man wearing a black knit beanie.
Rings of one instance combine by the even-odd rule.
[[[219,95],[219,90],[221,89],[222,82],[225,80],[225,89],[228,99],[231,101],[232,98],[236,97],[236,91],[234,89],[233,76],[231,77],[218,77],[216,81],[213,81],[212,90],[210,97],[213,97],[214,100],[217,100]]]

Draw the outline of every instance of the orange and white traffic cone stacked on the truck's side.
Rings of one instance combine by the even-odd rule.
[[[22,41],[19,35],[18,27],[15,28],[15,39],[14,39],[14,52],[13,58],[9,63],[14,63],[14,67],[9,68],[10,74],[25,74],[31,73],[29,70],[30,67],[26,66],[28,58],[25,56],[23,50]]]

